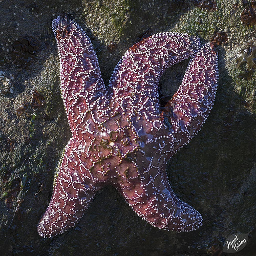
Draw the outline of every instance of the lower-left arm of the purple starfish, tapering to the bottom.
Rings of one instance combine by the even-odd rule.
[[[83,215],[101,184],[81,167],[81,157],[71,139],[61,162],[51,202],[38,224],[42,237],[53,237],[73,227]],[[87,175],[88,174],[88,175]]]

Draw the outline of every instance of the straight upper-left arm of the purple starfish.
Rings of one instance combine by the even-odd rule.
[[[81,115],[90,112],[98,118],[92,112],[97,105],[106,105],[108,92],[91,40],[81,27],[66,15],[54,19],[52,29],[60,61],[60,89],[73,132]]]

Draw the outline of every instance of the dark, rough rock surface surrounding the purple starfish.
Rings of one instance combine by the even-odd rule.
[[[256,45],[253,1],[0,1],[0,71],[11,83],[0,95],[0,251],[3,255],[221,255],[233,233],[249,233],[236,255],[256,244],[256,72],[236,57]],[[203,216],[197,231],[159,230],[141,220],[113,187],[97,194],[70,231],[42,239],[36,231],[71,133],[59,90],[52,19],[71,16],[92,39],[105,83],[123,53],[143,35],[163,31],[225,32],[219,46],[219,88],[199,134],[168,164],[175,193]],[[249,20],[249,22],[248,22]],[[215,37],[216,38],[216,37]],[[217,40],[217,39],[216,39]],[[163,75],[161,93],[173,95],[187,61]],[[1,73],[2,74],[2,73]],[[241,76],[241,74],[243,74]],[[225,253],[223,253],[225,255]]]

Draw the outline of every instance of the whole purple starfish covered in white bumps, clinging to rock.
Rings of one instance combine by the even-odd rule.
[[[74,226],[105,184],[112,184],[155,227],[178,232],[199,228],[202,216],[175,195],[165,168],[212,109],[218,80],[214,46],[201,46],[199,38],[187,34],[155,34],[124,54],[106,87],[81,27],[63,15],[53,20],[52,28],[72,138],[38,225],[40,236],[52,237]],[[161,75],[189,57],[181,86],[161,108]]]

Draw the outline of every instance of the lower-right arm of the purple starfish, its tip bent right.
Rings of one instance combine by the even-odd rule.
[[[133,210],[160,229],[178,232],[198,229],[202,225],[202,216],[175,195],[166,173],[158,166],[146,173],[148,175],[142,175],[137,183],[124,183],[119,189]]]

